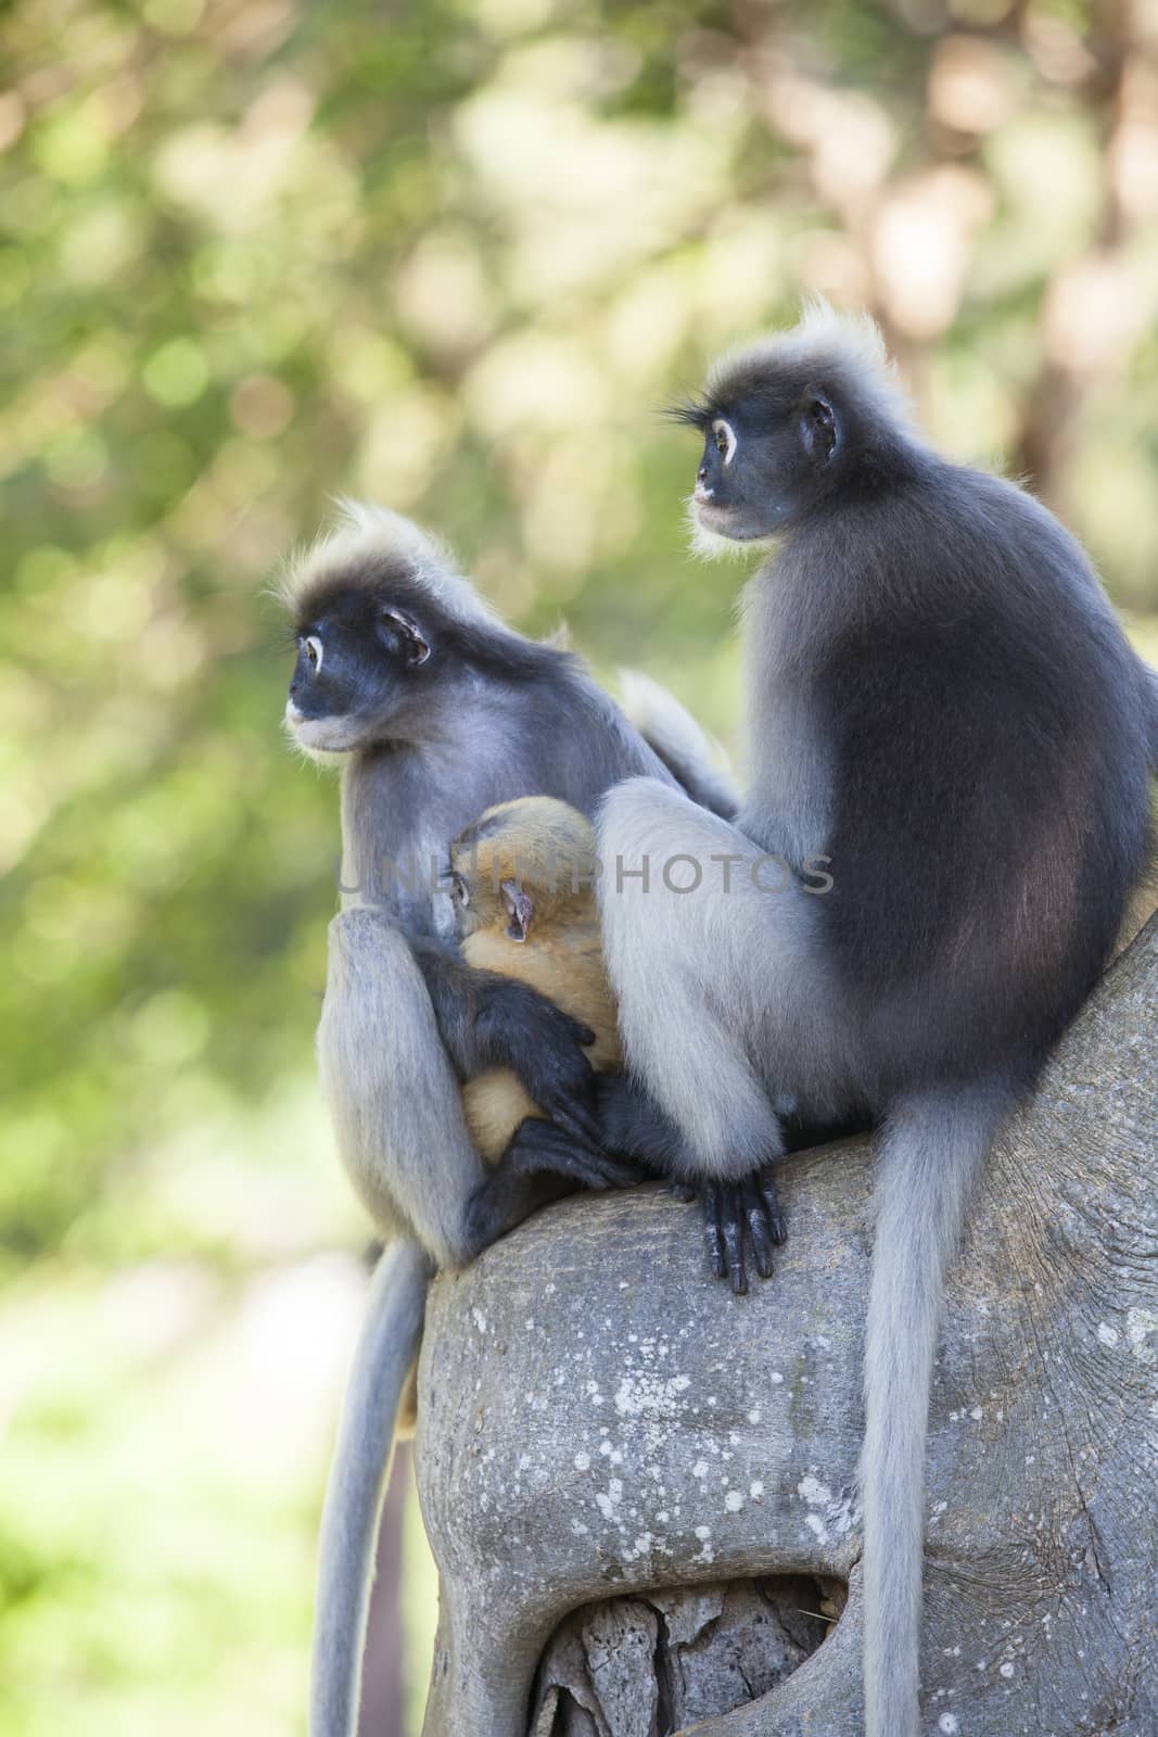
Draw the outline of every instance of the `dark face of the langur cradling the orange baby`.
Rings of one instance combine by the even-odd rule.
[[[413,608],[372,587],[330,585],[295,624],[297,665],[285,707],[300,747],[347,754],[403,740],[422,705],[431,632]]]

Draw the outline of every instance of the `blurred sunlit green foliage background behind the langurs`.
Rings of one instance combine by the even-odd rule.
[[[655,408],[821,290],[1146,634],[1156,38],[1153,0],[3,12],[5,1732],[302,1728],[363,1232],[280,556],[335,492],[401,507],[729,736],[734,575]]]

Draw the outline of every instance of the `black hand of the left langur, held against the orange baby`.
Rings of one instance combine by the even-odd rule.
[[[512,1068],[545,1117],[599,1150],[595,1075],[582,1049],[595,1034],[510,978],[488,988],[479,1028],[490,1061]]]

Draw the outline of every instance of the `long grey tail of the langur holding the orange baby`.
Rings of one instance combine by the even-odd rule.
[[[378,1511],[398,1407],[422,1341],[431,1263],[413,1242],[378,1261],[321,1511],[309,1685],[311,1737],[356,1737]]]

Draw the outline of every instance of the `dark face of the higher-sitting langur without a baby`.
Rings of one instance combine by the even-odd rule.
[[[682,419],[703,431],[696,523],[734,542],[785,530],[816,499],[840,450],[837,413],[814,384],[752,382]]]

